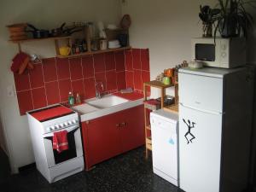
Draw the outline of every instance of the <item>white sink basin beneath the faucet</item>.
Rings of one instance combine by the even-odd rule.
[[[102,96],[101,99],[93,98],[90,100],[86,100],[85,102],[95,108],[110,108],[125,102],[129,102],[129,100],[121,98],[119,96],[107,95]]]

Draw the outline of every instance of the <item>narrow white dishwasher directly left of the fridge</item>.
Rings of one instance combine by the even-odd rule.
[[[153,172],[178,186],[178,115],[163,109],[150,113]]]

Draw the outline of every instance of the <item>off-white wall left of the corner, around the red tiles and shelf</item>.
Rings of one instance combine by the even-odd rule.
[[[20,116],[16,96],[7,96],[7,86],[15,86],[9,67],[18,52],[17,45],[8,42],[9,24],[29,22],[38,28],[55,28],[61,23],[79,20],[118,24],[121,9],[119,0],[9,0],[0,2],[0,106],[3,129],[8,141],[12,171],[34,161],[26,116]],[[23,46],[24,47],[24,46]],[[53,42],[30,43],[26,50],[39,55],[53,56]]]

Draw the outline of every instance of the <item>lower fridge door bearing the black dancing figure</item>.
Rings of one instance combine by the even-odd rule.
[[[179,105],[180,188],[218,192],[222,115]]]

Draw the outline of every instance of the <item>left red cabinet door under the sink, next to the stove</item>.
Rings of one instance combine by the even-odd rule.
[[[103,160],[121,153],[116,113],[83,123],[84,157],[89,169]]]

